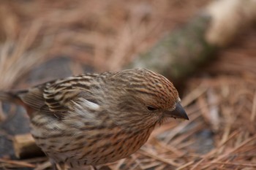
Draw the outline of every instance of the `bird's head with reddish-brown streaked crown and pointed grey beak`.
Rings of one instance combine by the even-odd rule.
[[[189,120],[173,84],[148,69],[128,69],[108,78],[108,106],[119,125],[144,127],[165,117]]]

